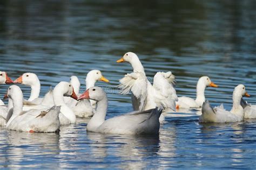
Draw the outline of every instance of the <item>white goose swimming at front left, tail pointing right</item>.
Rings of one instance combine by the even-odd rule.
[[[10,119],[6,123],[6,129],[25,132],[55,132],[59,130],[60,107],[52,107],[49,110],[22,111],[23,94],[21,88],[16,85],[9,87],[5,97],[12,100],[13,109],[8,113]],[[10,116],[9,116],[10,115]]]

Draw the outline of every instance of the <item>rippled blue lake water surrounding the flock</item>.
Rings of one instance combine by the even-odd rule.
[[[12,79],[36,73],[41,96],[59,81],[99,69],[111,82],[107,118],[131,111],[130,95],[115,86],[138,54],[147,76],[172,71],[178,96],[196,96],[200,76],[212,105],[232,107],[232,91],[245,84],[256,104],[254,1],[1,1],[0,70]],[[0,96],[8,85],[1,85]],[[21,85],[25,98],[29,87]],[[84,85],[82,86],[82,92]],[[0,128],[0,167],[20,168],[254,168],[256,120],[199,124],[200,111],[166,115],[159,136],[86,132],[89,119],[62,126],[60,133],[25,133]]]

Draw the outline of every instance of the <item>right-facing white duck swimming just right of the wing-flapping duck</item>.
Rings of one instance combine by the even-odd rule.
[[[178,97],[176,102],[176,108],[201,108],[205,102],[205,88],[206,87],[218,87],[214,84],[208,76],[202,76],[197,82],[197,98],[194,100],[190,97]]]

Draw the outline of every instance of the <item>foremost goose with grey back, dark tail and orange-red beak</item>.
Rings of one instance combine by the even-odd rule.
[[[107,96],[100,87],[91,87],[79,96],[78,100],[90,98],[97,101],[96,113],[87,124],[87,131],[116,134],[157,134],[161,110],[151,109],[142,112],[130,112],[105,120]]]

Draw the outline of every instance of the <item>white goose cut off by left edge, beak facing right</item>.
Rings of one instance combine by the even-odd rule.
[[[6,72],[0,71],[0,84],[14,83]],[[0,126],[4,126],[6,122],[6,116],[8,114],[8,108],[4,105],[4,102],[0,100]]]

